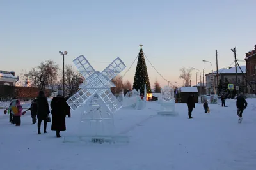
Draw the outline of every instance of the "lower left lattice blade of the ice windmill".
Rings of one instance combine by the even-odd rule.
[[[83,88],[76,92],[67,100],[68,106],[74,111],[82,106],[89,99],[90,96],[95,94],[95,90]]]

